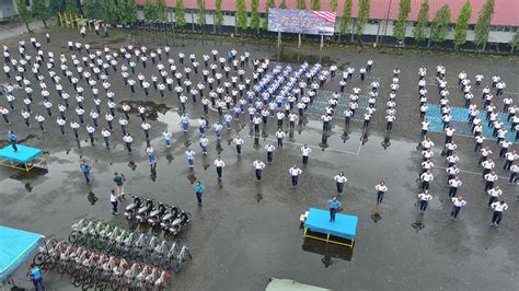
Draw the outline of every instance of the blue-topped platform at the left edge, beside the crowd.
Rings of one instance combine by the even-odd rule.
[[[16,144],[18,152],[11,146],[0,150],[0,165],[31,171],[35,165],[45,162],[42,149]]]

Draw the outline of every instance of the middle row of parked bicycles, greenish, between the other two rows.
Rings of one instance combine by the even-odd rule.
[[[186,245],[180,246],[155,235],[129,232],[101,220],[81,219],[72,224],[69,243],[175,272],[192,257]]]

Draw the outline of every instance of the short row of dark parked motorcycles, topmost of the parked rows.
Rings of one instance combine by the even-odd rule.
[[[160,225],[171,235],[177,235],[191,222],[188,211],[140,196],[134,196],[132,202],[126,207],[125,217],[137,220],[139,224],[148,223],[153,228]]]

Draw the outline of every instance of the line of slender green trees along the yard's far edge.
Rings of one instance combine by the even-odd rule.
[[[19,5],[19,15],[28,30],[28,23],[33,20],[41,20],[46,26],[46,21],[56,12],[66,12],[71,14],[83,14],[86,19],[102,19],[108,23],[119,23],[130,25],[137,22],[137,4],[134,0],[33,0],[32,9],[25,5],[25,0],[16,0]],[[197,0],[196,24],[206,25],[205,0]],[[309,5],[307,3],[310,2]],[[353,19],[353,0],[343,0],[343,15],[339,18],[339,34],[355,34],[360,37],[364,28],[369,21],[371,0],[358,0],[357,19]],[[337,11],[337,0],[330,0],[332,11]],[[242,32],[251,30],[255,33],[268,28],[268,10],[276,8],[275,0],[264,1],[265,16],[260,16],[260,0],[251,0],[251,16],[247,15],[245,0],[235,0],[235,26]],[[298,0],[297,9],[320,10],[320,0]],[[447,40],[449,30],[452,24],[452,13],[449,5],[442,5],[435,15],[429,15],[429,0],[422,0],[418,18],[412,31],[413,38],[417,43],[427,42],[427,46],[439,44]],[[279,2],[278,8],[286,9],[285,0]],[[483,8],[478,11],[477,22],[474,25],[474,45],[477,48],[485,49],[491,32],[491,21],[494,15],[495,0],[485,0]],[[146,0],[142,12],[147,21],[168,21],[168,8],[165,0]],[[399,0],[399,16],[393,23],[393,37],[397,42],[405,42],[407,38],[408,16],[411,12],[411,0]],[[223,26],[222,0],[216,0],[215,26],[219,30]],[[463,47],[468,42],[466,32],[469,21],[472,18],[472,5],[470,0],[465,0],[462,9],[455,15],[453,43],[455,49]],[[174,8],[174,24],[176,28],[184,28],[187,24],[184,0],[176,0]],[[387,25],[387,24],[385,24]],[[519,47],[519,31],[516,32],[510,42],[511,49]]]

